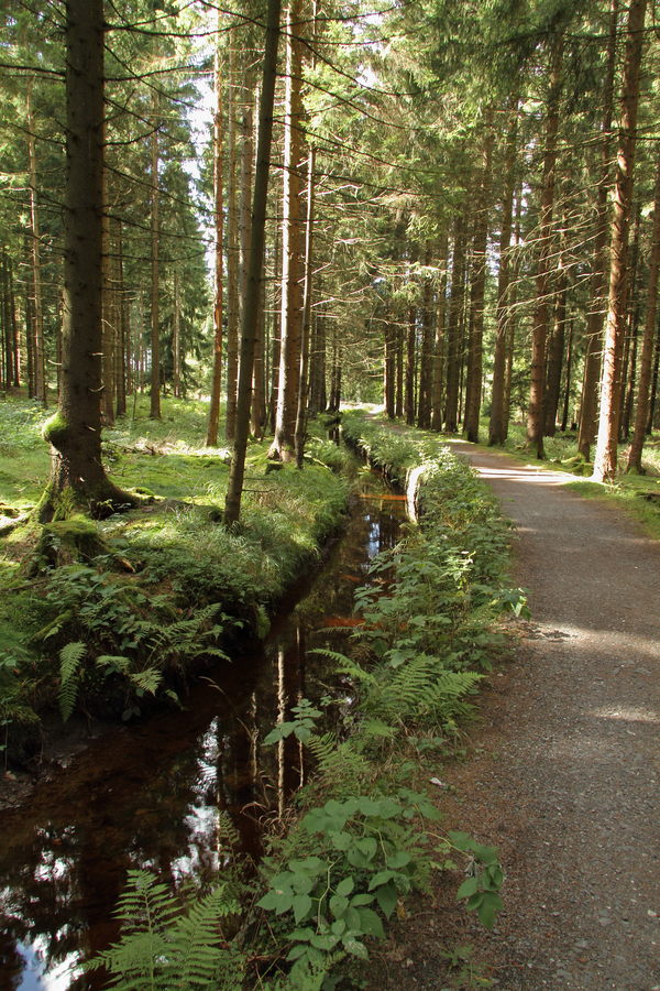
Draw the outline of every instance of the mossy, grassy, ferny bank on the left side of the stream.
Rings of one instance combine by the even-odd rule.
[[[177,704],[191,671],[224,662],[238,638],[265,634],[268,616],[343,523],[349,481],[332,470],[345,467],[334,445],[312,439],[305,470],[270,473],[267,443],[252,445],[241,526],[229,531],[220,522],[227,451],[204,446],[205,404],[169,400],[161,422],[140,413],[108,432],[105,457],[111,478],[151,494],[150,504],[102,522],[75,512],[46,526],[31,521],[1,540],[6,759],[38,744],[36,714],[54,707],[65,720],[75,710],[130,719],[156,696]],[[19,491],[16,471],[3,490],[7,505],[22,510],[45,482],[44,414],[11,402],[0,416],[2,436],[13,431],[0,470],[41,465],[33,487]]]

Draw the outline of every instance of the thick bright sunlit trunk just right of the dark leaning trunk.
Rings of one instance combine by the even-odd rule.
[[[284,196],[282,204],[282,347],[275,436],[268,457],[295,459],[295,431],[302,341],[302,258],[300,157],[302,151],[302,2],[289,0],[286,26]]]

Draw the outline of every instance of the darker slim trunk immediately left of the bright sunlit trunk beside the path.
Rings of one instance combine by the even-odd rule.
[[[596,436],[596,412],[598,409],[598,377],[601,373],[601,349],[603,346],[603,311],[607,288],[607,197],[612,159],[612,116],[614,108],[614,74],[616,69],[616,35],[619,0],[612,0],[609,11],[609,37],[607,43],[607,68],[603,86],[603,120],[601,123],[601,167],[596,203],[596,235],[591,277],[591,308],[586,327],[586,353],[582,380],[582,403],[580,406],[580,431],[578,450],[588,461],[591,446]]]

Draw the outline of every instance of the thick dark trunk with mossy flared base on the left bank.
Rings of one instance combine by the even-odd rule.
[[[102,0],[68,0],[66,15],[62,392],[58,411],[44,427],[52,455],[51,479],[38,508],[44,521],[73,509],[102,514],[134,502],[112,484],[101,462]]]

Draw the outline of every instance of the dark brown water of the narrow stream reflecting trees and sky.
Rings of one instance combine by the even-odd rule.
[[[235,830],[258,856],[260,819],[305,777],[294,739],[261,741],[301,697],[350,693],[306,651],[342,649],[353,592],[405,519],[400,497],[363,478],[345,535],[262,650],[212,673],[185,711],[94,741],[28,807],[0,814],[0,991],[95,987],[79,965],[117,937],[128,870],[204,881],[235,856]]]

